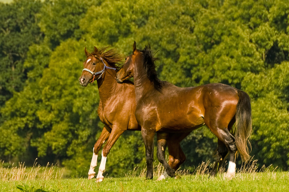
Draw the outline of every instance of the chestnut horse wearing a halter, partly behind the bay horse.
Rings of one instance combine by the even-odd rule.
[[[88,171],[88,179],[95,177],[95,167],[97,166],[97,156],[101,146],[107,141],[102,150],[102,159],[99,166],[96,181],[103,180],[103,172],[105,171],[105,163],[110,149],[126,130],[139,130],[135,117],[136,99],[134,84],[130,81],[124,81],[123,84],[116,82],[116,72],[122,61],[122,56],[114,49],[107,50],[108,47],[101,47],[89,53],[84,49],[86,60],[84,61],[84,69],[79,77],[79,83],[87,86],[88,83],[97,81],[99,91],[99,107],[97,113],[102,123],[104,123],[103,131],[93,148],[93,155]],[[107,51],[106,51],[107,50]],[[170,134],[168,136],[168,146],[170,159],[169,164],[173,169],[177,170],[181,163],[186,159],[184,152],[181,150],[179,142],[182,138],[178,134]],[[166,173],[160,177],[164,178]]]

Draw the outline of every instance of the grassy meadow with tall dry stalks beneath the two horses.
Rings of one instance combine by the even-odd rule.
[[[192,174],[189,174],[189,170],[178,171],[180,179],[167,178],[156,181],[163,169],[157,165],[153,180],[145,179],[143,169],[139,174],[136,174],[136,170],[128,171],[125,177],[105,177],[103,182],[95,183],[95,179],[63,178],[62,170],[55,166],[35,165],[26,169],[20,164],[12,168],[1,167],[0,191],[289,191],[288,171],[278,171],[276,168],[264,166],[260,168],[254,161],[237,169],[236,177],[227,180],[223,178],[222,169],[216,177],[209,177],[208,165],[209,163],[202,163]]]

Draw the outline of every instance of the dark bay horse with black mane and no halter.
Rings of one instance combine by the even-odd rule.
[[[155,71],[155,60],[150,45],[136,49],[127,56],[125,64],[117,72],[121,83],[134,77],[136,93],[136,120],[141,126],[146,148],[147,178],[152,179],[153,136],[157,133],[158,160],[169,176],[175,172],[166,163],[164,148],[168,133],[182,134],[206,125],[218,138],[217,160],[211,172],[216,175],[218,164],[230,152],[226,178],[236,173],[235,154],[238,150],[243,160],[249,158],[249,136],[252,131],[251,103],[247,93],[225,84],[206,84],[180,88],[161,81]],[[235,134],[230,133],[234,123]]]

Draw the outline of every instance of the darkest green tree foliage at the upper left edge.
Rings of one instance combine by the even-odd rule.
[[[23,62],[29,46],[40,43],[40,33],[36,14],[41,1],[15,0],[0,6],[0,107],[21,91],[25,85],[26,70]]]

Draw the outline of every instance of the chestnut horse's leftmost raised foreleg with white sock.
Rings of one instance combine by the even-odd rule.
[[[108,130],[104,127],[101,132],[101,135],[99,136],[99,139],[97,139],[97,142],[95,143],[93,147],[92,159],[91,159],[90,168],[88,171],[88,179],[92,179],[95,177],[94,169],[97,166],[98,152],[101,146],[103,145],[103,143],[105,143],[105,141],[108,139],[109,135],[110,135],[110,132],[108,132]]]

